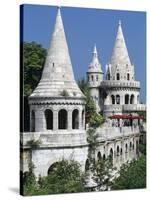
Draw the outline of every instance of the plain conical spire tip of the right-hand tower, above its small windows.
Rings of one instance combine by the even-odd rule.
[[[122,31],[122,25],[121,20],[119,20],[118,23],[118,32],[116,36],[115,45],[113,48],[110,64],[112,65],[131,65],[130,58],[128,55],[128,50],[126,47],[123,31]]]

